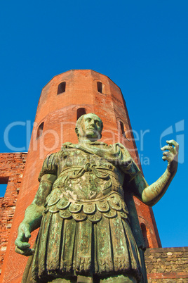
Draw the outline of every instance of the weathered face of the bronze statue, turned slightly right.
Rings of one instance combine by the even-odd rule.
[[[80,137],[98,140],[101,137],[101,132],[101,122],[98,115],[92,113],[84,115],[81,121],[81,127],[79,127]]]

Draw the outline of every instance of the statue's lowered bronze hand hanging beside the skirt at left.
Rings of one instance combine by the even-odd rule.
[[[32,256],[34,249],[29,249],[30,244],[28,243],[31,237],[29,224],[22,222],[18,228],[18,237],[15,240],[15,251],[23,256]]]

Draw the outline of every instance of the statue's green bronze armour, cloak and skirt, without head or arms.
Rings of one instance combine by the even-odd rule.
[[[76,275],[133,275],[147,282],[145,243],[131,181],[139,169],[122,144],[65,143],[43,162],[57,175],[22,282]]]

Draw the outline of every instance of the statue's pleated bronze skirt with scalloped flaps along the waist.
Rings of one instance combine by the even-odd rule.
[[[32,260],[32,278],[66,275],[133,275],[140,282],[140,254],[122,197],[112,192],[93,203],[48,199]]]

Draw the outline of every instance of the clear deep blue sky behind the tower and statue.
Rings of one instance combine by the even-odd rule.
[[[147,131],[137,148],[143,163],[149,158],[142,165],[149,184],[166,169],[160,139],[180,141],[177,175],[153,208],[164,247],[188,246],[187,15],[185,0],[0,4],[0,151],[13,151],[4,132],[17,121],[22,125],[10,130],[8,142],[27,151],[26,122],[34,122],[41,89],[54,75],[70,69],[107,75],[121,87],[133,130],[139,137]]]

